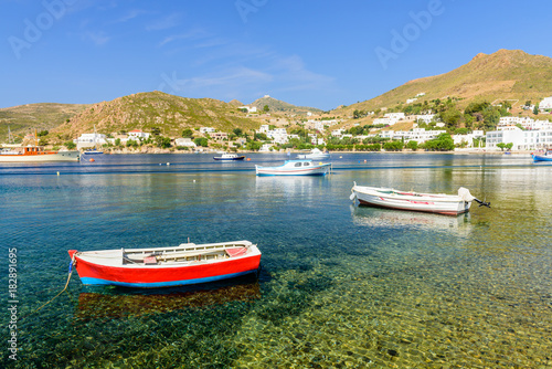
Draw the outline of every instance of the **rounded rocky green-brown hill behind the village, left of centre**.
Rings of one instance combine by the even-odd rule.
[[[180,137],[184,128],[258,128],[259,120],[246,118],[234,105],[213,98],[188,98],[162,92],[138,93],[89,106],[52,133],[64,139],[92,133],[102,134],[157,127],[163,136]]]

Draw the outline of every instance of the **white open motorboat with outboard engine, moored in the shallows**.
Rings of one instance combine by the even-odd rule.
[[[429,213],[458,215],[469,211],[473,201],[490,208],[490,203],[480,201],[460,187],[458,194],[417,193],[412,191],[397,191],[392,188],[354,186],[350,199],[359,200],[360,204],[395,210],[423,211]]]

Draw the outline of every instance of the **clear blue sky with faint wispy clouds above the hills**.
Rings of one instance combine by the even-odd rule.
[[[0,107],[163,91],[331,109],[476,54],[552,56],[535,0],[0,0]]]

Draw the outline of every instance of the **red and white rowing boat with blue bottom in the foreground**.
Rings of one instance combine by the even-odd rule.
[[[183,243],[176,247],[70,250],[85,285],[157,288],[256,273],[261,252],[250,241]]]

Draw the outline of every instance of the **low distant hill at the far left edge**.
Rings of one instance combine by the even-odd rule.
[[[85,104],[26,104],[0,109],[0,141],[7,141],[8,127],[15,137],[31,130],[51,130],[85,110]]]

